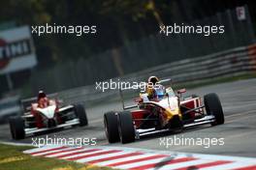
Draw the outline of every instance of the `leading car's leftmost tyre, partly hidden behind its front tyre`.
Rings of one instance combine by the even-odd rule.
[[[104,114],[104,126],[106,136],[110,143],[119,142],[119,133],[117,126],[117,115],[116,112],[108,112]]]

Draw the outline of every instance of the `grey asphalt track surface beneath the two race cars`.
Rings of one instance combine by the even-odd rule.
[[[97,145],[256,157],[256,79],[210,85],[187,91],[187,94],[197,94],[200,96],[208,93],[218,94],[225,114],[224,125],[192,128],[178,134],[154,134],[125,145],[120,143],[108,144],[104,132],[103,115],[107,111],[121,110],[120,102],[112,101],[86,108],[89,120],[88,127],[68,128],[36,137],[45,139],[46,137],[96,138]],[[178,144],[177,138],[183,141],[193,138],[194,143],[183,142],[183,144]],[[165,140],[165,144],[163,140]],[[167,145],[167,140],[169,145]],[[209,140],[211,140],[211,143],[208,142]],[[217,142],[215,142],[216,140]],[[219,142],[220,140],[222,142]],[[0,126],[0,141],[16,142],[11,138],[8,125]],[[17,142],[31,144],[32,138],[28,137]]]

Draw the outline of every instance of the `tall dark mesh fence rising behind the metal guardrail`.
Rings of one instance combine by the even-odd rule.
[[[38,89],[44,89],[49,93],[54,93],[56,91],[94,84],[95,81],[110,79],[112,77],[123,75],[127,77],[126,74],[131,72],[144,71],[156,66],[160,66],[159,68],[162,70],[163,65],[167,66],[166,68],[168,69],[165,68],[166,71],[159,73],[165,75],[164,72],[175,72],[173,75],[178,81],[181,81],[187,76],[185,72],[182,76],[176,75],[176,73],[180,73],[182,67],[187,71],[193,68],[193,70],[190,71],[193,71],[195,75],[191,74],[189,76],[194,77],[194,79],[200,78],[197,75],[197,68],[202,68],[203,66],[194,66],[198,65],[198,61],[200,60],[206,61],[206,63],[202,63],[202,65],[207,65],[208,58],[210,58],[208,54],[238,46],[245,46],[255,42],[253,24],[246,6],[244,6],[244,11],[245,18],[243,20],[238,18],[236,9],[232,9],[203,19],[184,23],[202,26],[223,25],[225,26],[224,34],[212,34],[208,37],[196,34],[175,34],[166,37],[158,34],[158,28],[156,26],[157,33],[145,37],[142,40],[135,42],[126,41],[121,47],[110,49],[89,58],[83,58],[81,56],[78,61],[73,61],[71,56],[71,61],[66,63],[59,63],[53,68],[32,71],[28,91],[34,94]],[[240,48],[236,50],[241,53],[245,51]],[[229,51],[227,51],[226,54],[228,54],[228,52]],[[78,55],[80,55],[79,51]],[[220,52],[219,55],[220,57],[225,56],[222,52]],[[236,55],[240,54],[236,53]],[[196,59],[198,56],[203,57]],[[207,58],[204,59],[204,57]],[[215,63],[219,63],[218,60],[222,60],[217,54],[214,54],[214,57],[216,58]],[[229,58],[230,56],[225,57]],[[186,68],[187,64],[191,62],[190,60],[194,62],[189,65],[189,68]],[[168,67],[169,64],[165,65],[171,62],[175,62],[171,65],[172,68]],[[177,68],[176,65],[180,65],[180,69]],[[239,64],[237,65],[239,67]],[[175,69],[173,69],[174,66]],[[217,64],[211,64],[211,66],[212,71],[202,72],[202,78],[205,78],[208,73],[212,74],[212,72],[218,68]],[[230,65],[228,64],[225,67],[230,67]],[[234,68],[234,70],[236,69]],[[222,73],[226,72],[222,71]],[[137,73],[134,74],[137,75]],[[189,76],[187,76],[187,78],[190,78]]]

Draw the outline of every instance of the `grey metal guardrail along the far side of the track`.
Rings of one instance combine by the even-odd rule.
[[[210,54],[208,56],[180,60],[148,70],[115,77],[113,81],[145,81],[150,75],[161,78],[171,77],[175,83],[200,83],[216,77],[230,77],[256,71],[256,44]],[[110,99],[118,90],[104,93],[95,85],[75,88],[59,93],[68,102],[95,102]]]

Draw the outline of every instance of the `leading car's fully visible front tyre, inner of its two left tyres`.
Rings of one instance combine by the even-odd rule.
[[[135,129],[132,114],[129,111],[120,112],[117,116],[118,131],[121,142],[130,143],[135,141]]]

